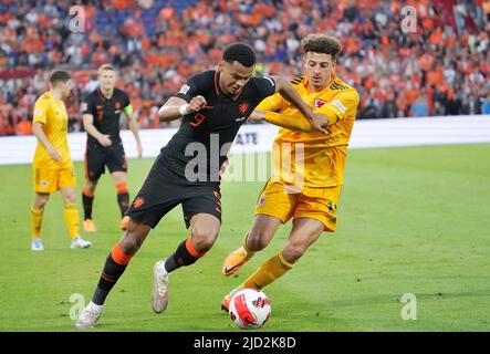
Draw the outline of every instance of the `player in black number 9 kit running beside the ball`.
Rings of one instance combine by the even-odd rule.
[[[183,117],[179,131],[161,148],[129,207],[129,225],[108,254],[92,301],[75,326],[94,326],[103,304],[142,247],[150,229],[176,206],[183,206],[189,236],[175,252],[155,263],[152,306],[168,304],[169,273],[194,264],[215,243],[221,227],[220,171],[240,127],[267,96],[280,92],[313,119],[309,106],[280,77],[254,77],[256,53],[243,43],[228,45],[217,70],[190,77],[159,110],[163,121]],[[315,125],[316,128],[320,128]],[[321,128],[320,128],[321,129]]]

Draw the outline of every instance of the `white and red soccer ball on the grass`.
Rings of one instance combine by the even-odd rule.
[[[271,302],[260,290],[243,289],[231,298],[229,314],[242,330],[260,329],[269,320]]]

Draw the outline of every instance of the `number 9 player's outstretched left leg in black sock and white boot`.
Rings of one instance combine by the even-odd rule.
[[[92,301],[80,314],[75,324],[76,329],[90,329],[97,323],[108,293],[121,275],[123,275],[127,264],[142,247],[150,229],[150,226],[129,219],[123,238],[114,246],[105,260],[104,269],[95,288]]]

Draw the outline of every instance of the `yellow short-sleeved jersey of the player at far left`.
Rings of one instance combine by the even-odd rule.
[[[48,140],[50,140],[51,145],[60,152],[62,160],[53,160],[45,147],[38,142],[33,165],[46,169],[59,169],[73,166],[67,143],[69,115],[63,101],[54,100],[50,92],[45,92],[41,95],[34,104],[34,118],[32,123],[34,124],[38,122],[42,123],[42,129]]]

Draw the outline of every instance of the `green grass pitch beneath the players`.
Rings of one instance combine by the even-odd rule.
[[[350,152],[335,235],[324,235],[284,278],[264,289],[272,303],[260,331],[489,331],[490,145]],[[131,196],[153,159],[129,162]],[[79,192],[83,165],[76,164]],[[59,194],[48,204],[44,252],[30,250],[31,166],[0,167],[0,331],[74,331],[72,294],[90,301],[121,238],[112,179],[98,185],[95,235],[71,250]],[[220,274],[239,247],[263,183],[223,183],[223,223],[213,249],[170,275],[170,303],[153,313],[153,264],[187,237],[180,207],[153,230],[107,299],[93,331],[238,331],[222,296],[275,253],[291,225],[238,274]],[[79,195],[79,208],[82,208]],[[416,320],[403,320],[405,293]],[[76,296],[76,295],[75,295]],[[411,304],[414,304],[411,302]],[[74,308],[75,309],[75,308]],[[73,311],[73,310],[72,310]]]

